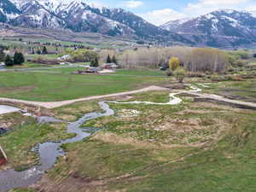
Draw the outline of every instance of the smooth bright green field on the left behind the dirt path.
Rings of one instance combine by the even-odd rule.
[[[56,74],[0,73],[0,96],[53,102],[134,90],[142,84],[157,84],[168,80],[165,77],[69,74],[76,70],[76,68],[49,70],[61,72]]]

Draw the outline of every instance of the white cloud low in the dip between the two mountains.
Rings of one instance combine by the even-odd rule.
[[[178,20],[186,17],[186,15],[183,15],[182,13],[179,13],[173,9],[154,10],[141,14],[140,16],[157,26],[165,24],[170,20]]]

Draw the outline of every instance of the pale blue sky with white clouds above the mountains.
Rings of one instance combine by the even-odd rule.
[[[169,20],[204,15],[217,9],[256,13],[256,0],[84,0],[110,8],[123,8],[155,25]]]

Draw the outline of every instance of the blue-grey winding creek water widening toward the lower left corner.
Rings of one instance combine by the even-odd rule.
[[[75,137],[55,143],[40,143],[36,147],[32,148],[32,151],[37,152],[40,157],[39,166],[33,166],[23,172],[16,172],[14,169],[0,172],[0,191],[6,192],[10,189],[27,187],[33,183],[37,183],[44,172],[54,166],[57,158],[65,154],[64,150],[61,148],[62,144],[75,143],[82,141],[86,137],[90,137],[92,134],[91,128],[81,127],[84,122],[90,119],[97,119],[114,114],[113,109],[109,108],[106,102],[99,102],[99,105],[104,110],[103,113],[87,113],[79,120],[67,125],[67,133],[75,133]],[[44,117],[44,120],[40,122],[39,119],[39,122],[55,122],[56,120],[57,119]]]

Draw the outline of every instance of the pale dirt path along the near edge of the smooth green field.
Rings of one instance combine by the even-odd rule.
[[[104,96],[88,96],[88,97],[84,97],[84,98],[80,98],[80,99],[74,99],[74,100],[68,100],[68,101],[62,101],[62,102],[29,102],[29,101],[25,101],[25,100],[9,99],[9,98],[1,98],[0,97],[0,102],[22,103],[22,104],[26,104],[26,105],[32,105],[32,106],[43,107],[43,108],[59,108],[61,106],[72,104],[74,102],[84,102],[84,101],[108,98],[108,97],[113,97],[113,96],[127,96],[127,95],[136,94],[136,93],[151,91],[151,90],[169,90],[169,89],[159,87],[159,86],[150,86],[150,87],[147,87],[147,88],[144,88],[141,90],[131,90],[131,91],[114,93],[114,94],[109,94],[109,95],[104,95]]]

